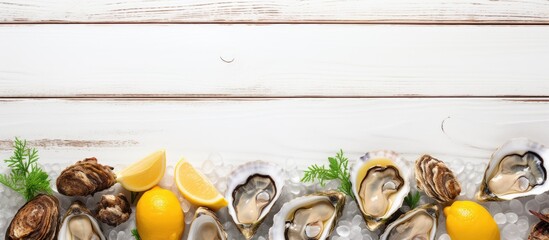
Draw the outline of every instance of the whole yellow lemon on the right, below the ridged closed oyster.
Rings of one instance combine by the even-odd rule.
[[[499,229],[492,215],[480,204],[456,201],[444,208],[446,231],[452,240],[499,240]]]

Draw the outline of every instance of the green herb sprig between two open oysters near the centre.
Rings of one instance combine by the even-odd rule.
[[[340,182],[338,190],[354,199],[355,195],[351,187],[351,175],[348,167],[349,159],[343,156],[343,150],[339,150],[335,157],[329,157],[328,161],[330,162],[328,168],[316,164],[309,166],[301,181],[313,182],[318,180],[321,186],[325,186],[326,181],[337,179]]]

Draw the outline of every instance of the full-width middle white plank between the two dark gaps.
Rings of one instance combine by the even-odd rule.
[[[3,25],[4,97],[547,96],[549,26]]]

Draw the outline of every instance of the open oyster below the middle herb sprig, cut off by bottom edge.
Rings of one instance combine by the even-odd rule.
[[[337,191],[307,195],[289,201],[274,216],[269,239],[327,239],[344,206],[345,195]]]

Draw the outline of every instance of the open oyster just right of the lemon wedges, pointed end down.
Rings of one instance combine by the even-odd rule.
[[[225,199],[236,226],[250,239],[265,219],[284,187],[283,170],[262,161],[241,165],[229,176]]]

